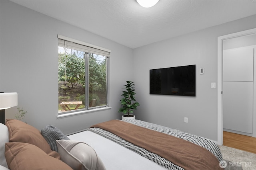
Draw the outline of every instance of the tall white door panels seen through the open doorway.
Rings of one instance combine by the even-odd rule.
[[[223,128],[252,134],[254,48],[223,51]]]

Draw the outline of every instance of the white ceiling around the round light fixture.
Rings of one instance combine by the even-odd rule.
[[[11,0],[130,48],[256,14],[256,0]]]

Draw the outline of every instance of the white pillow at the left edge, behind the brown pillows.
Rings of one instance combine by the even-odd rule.
[[[9,142],[9,131],[8,127],[2,123],[0,123],[0,165],[8,168],[6,163],[6,159],[4,156],[5,152],[5,143]]]

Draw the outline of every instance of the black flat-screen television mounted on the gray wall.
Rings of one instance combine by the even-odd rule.
[[[150,94],[196,96],[196,65],[149,70]]]

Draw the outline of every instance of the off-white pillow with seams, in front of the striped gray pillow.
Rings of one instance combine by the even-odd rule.
[[[95,150],[83,142],[73,140],[57,140],[60,159],[72,169],[105,170]]]

